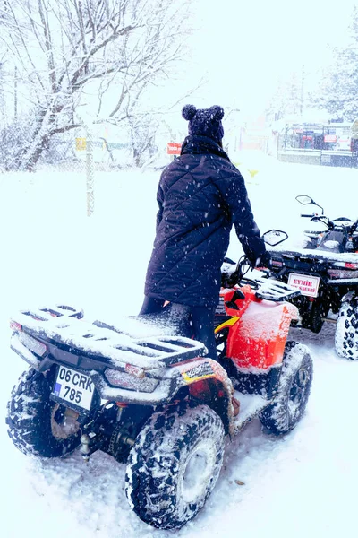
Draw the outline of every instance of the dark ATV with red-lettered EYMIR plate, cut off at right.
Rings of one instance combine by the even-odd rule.
[[[318,205],[310,196],[297,196],[301,204]],[[320,205],[318,205],[320,207]],[[358,359],[358,220],[340,217],[330,221],[323,213],[302,214],[325,230],[306,230],[304,248],[270,250],[272,274],[301,291],[292,299],[299,309],[299,325],[320,333],[325,321],[336,323],[337,355]]]

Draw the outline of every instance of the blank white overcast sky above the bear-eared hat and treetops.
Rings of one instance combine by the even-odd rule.
[[[278,83],[293,72],[299,78],[303,65],[308,89],[312,74],[314,78],[320,65],[329,62],[328,44],[340,45],[347,39],[354,4],[358,0],[334,4],[328,0],[192,0],[193,13],[188,16],[195,30],[186,43],[191,53],[183,50],[182,65],[175,66],[164,86],[159,83],[150,89],[143,110],[159,103],[166,109],[170,126],[183,133],[183,102],[198,107],[219,104],[239,108],[245,118],[259,116]],[[186,99],[204,74],[208,83]],[[90,99],[89,91],[87,88],[84,97],[92,116],[98,102]],[[180,104],[167,111],[180,99]],[[112,101],[107,101],[111,108]],[[86,110],[81,108],[81,113]]]

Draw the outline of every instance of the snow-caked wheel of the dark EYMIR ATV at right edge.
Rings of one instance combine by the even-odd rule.
[[[345,301],[339,309],[335,348],[343,359],[358,359],[358,305],[357,300]]]

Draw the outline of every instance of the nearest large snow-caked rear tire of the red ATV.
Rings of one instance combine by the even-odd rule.
[[[214,489],[224,457],[224,427],[208,405],[170,405],[136,438],[125,492],[142,521],[175,529],[196,516]]]

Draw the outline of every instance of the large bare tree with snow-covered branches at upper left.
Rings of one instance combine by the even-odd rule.
[[[181,56],[184,9],[171,0],[3,0],[0,40],[33,116],[17,167],[33,169],[54,134],[78,127],[90,94],[97,114],[106,103],[107,116],[127,121],[129,104]]]

